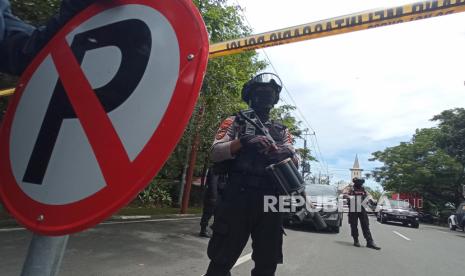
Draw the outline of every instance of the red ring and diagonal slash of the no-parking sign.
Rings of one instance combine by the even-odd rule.
[[[169,21],[176,33],[180,57],[179,61],[173,61],[179,62],[179,77],[171,101],[155,132],[133,161],[122,150],[121,141],[95,93],[82,92],[91,92],[92,88],[82,71],[76,69],[79,64],[70,56],[72,52],[66,44],[66,36],[86,20],[107,9],[129,4],[155,9]],[[10,156],[11,129],[18,104],[25,87],[48,56],[52,56],[57,71],[66,74],[60,74],[60,80],[107,184],[85,199],[63,205],[40,203],[24,193],[13,175]],[[120,0],[94,4],[79,13],[29,65],[8,107],[0,132],[0,196],[5,207],[31,231],[64,235],[89,228],[129,203],[162,168],[181,138],[195,107],[207,61],[208,35],[191,1]]]

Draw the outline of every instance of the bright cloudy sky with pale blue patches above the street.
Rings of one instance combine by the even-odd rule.
[[[253,33],[413,2],[231,0],[243,7]],[[372,152],[408,141],[445,109],[465,107],[464,49],[465,13],[458,13],[265,52],[316,131],[332,180],[348,181],[355,154],[369,171],[377,165],[368,161]],[[314,173],[321,163],[312,164]]]

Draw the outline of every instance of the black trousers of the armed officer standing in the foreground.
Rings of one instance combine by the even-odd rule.
[[[249,237],[255,262],[251,275],[275,275],[277,264],[283,259],[284,231],[280,213],[264,212],[266,194],[259,189],[241,188],[240,179],[230,179],[212,226],[213,236],[208,244],[211,261],[206,276],[231,275]]]

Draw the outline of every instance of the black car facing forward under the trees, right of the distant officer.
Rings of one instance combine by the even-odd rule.
[[[377,220],[381,223],[388,221],[401,222],[403,225],[419,227],[418,212],[413,210],[410,203],[402,200],[386,200],[378,206]]]

